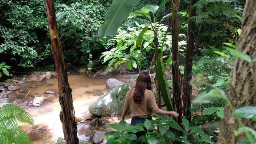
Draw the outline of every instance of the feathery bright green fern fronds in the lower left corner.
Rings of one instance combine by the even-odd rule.
[[[32,115],[17,105],[3,105],[0,108],[0,143],[1,144],[32,144],[32,141],[18,125],[33,125]]]

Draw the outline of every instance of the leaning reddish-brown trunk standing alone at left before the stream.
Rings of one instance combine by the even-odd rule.
[[[62,122],[62,129],[66,144],[79,144],[77,137],[77,128],[75,123],[75,111],[69,87],[68,75],[65,68],[65,62],[62,56],[59,31],[56,22],[53,0],[45,0],[46,15],[49,24],[50,38],[52,43],[52,52],[54,54],[54,62],[59,84],[59,103],[61,112],[59,114]]]

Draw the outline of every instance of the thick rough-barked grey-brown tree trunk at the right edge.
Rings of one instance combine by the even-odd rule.
[[[237,50],[256,58],[256,0],[246,0],[243,14],[242,33],[238,40]],[[236,58],[232,72],[232,81],[227,91],[228,98],[235,108],[256,105],[256,65]],[[243,119],[243,124],[256,129],[256,121]],[[235,137],[234,131],[239,127],[236,118],[226,105],[220,126],[217,144],[236,144],[243,135]]]

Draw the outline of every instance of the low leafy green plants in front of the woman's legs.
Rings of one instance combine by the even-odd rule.
[[[136,125],[126,125],[125,121],[121,121],[119,124],[109,124],[110,127],[118,131],[107,132],[105,137],[107,144],[136,144],[137,142],[144,142],[147,144],[172,144],[174,141],[179,141],[186,144],[213,144],[213,141],[209,136],[198,127],[190,128],[190,124],[187,119],[183,118],[185,131],[174,119],[166,117],[164,115],[156,115],[156,120],[146,119],[144,123]],[[154,128],[158,127],[158,131]],[[169,128],[174,128],[183,133],[183,136],[178,137]],[[150,132],[153,130],[153,132]],[[135,133],[138,131],[145,131],[145,135],[136,137]],[[194,140],[190,139],[194,137]],[[131,141],[133,140],[133,141]]]

